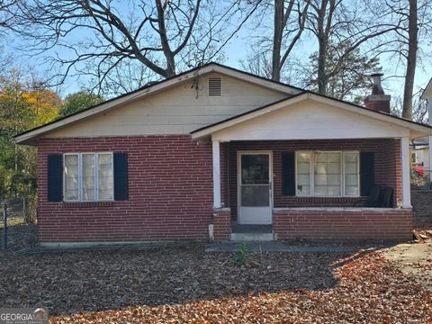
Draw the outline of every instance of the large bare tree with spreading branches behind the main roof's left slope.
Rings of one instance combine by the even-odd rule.
[[[65,67],[65,77],[74,72],[86,74],[90,66],[103,84],[128,60],[139,61],[157,76],[170,77],[184,58],[190,58],[186,65],[199,65],[220,55],[256,8],[255,3],[241,0],[215,3],[33,0],[19,5],[20,31],[33,40],[31,49],[50,55],[55,49],[67,53],[53,57]],[[227,27],[233,24],[235,27]]]

